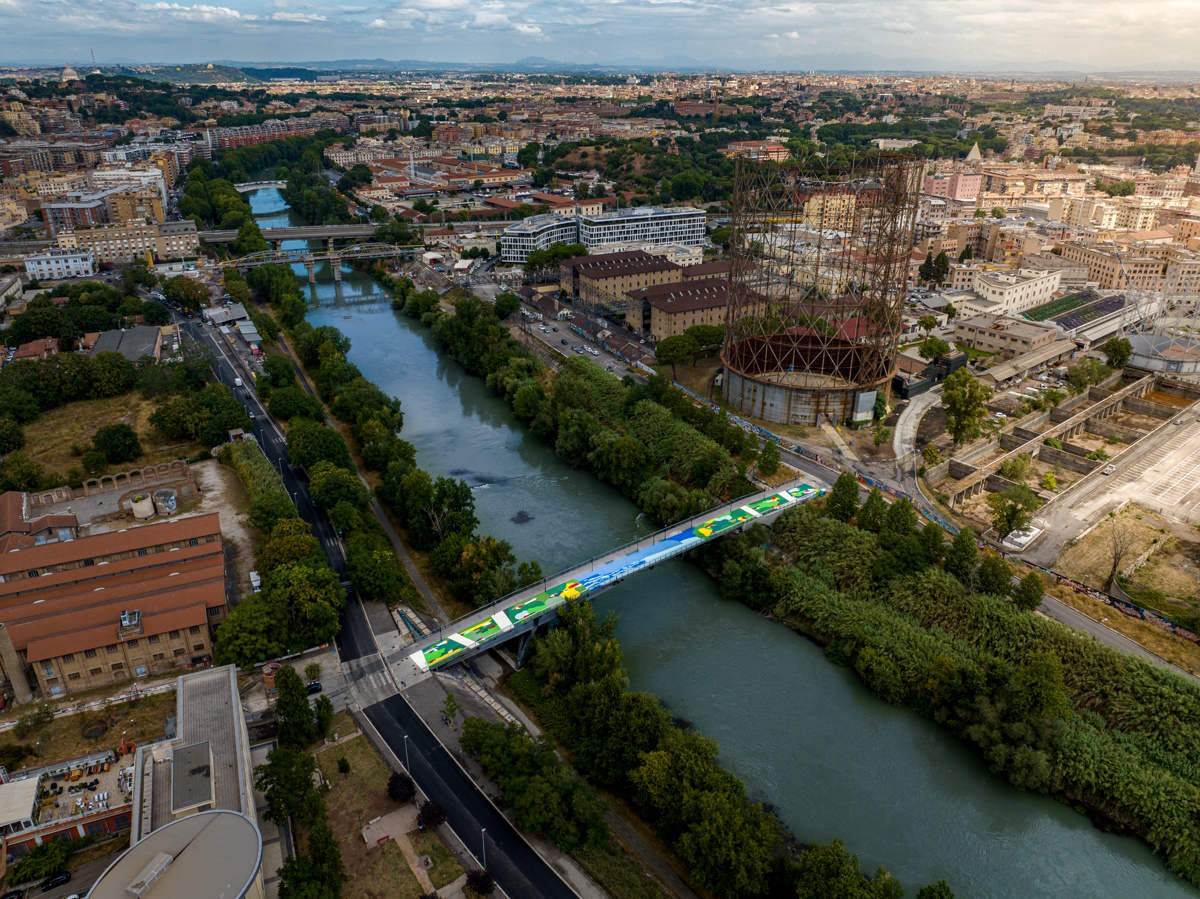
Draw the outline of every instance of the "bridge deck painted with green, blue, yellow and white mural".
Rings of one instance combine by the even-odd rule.
[[[569,599],[594,595],[631,574],[653,568],[708,540],[757,520],[773,521],[781,511],[822,495],[824,491],[808,484],[766,491],[742,505],[716,510],[712,519],[667,528],[641,538],[606,556],[568,569],[521,593],[496,600],[466,618],[448,625],[452,633],[439,630],[419,641],[420,647],[409,659],[420,671],[439,667],[452,660],[474,655],[493,641],[515,636],[514,631],[529,630],[546,612]],[[547,586],[547,582],[550,586]]]

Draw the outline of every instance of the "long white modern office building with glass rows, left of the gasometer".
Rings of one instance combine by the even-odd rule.
[[[704,242],[704,210],[691,206],[636,206],[596,215],[538,215],[510,224],[500,238],[502,258],[523,264],[535,250],[551,244],[606,244],[646,246],[676,244],[701,246]]]

